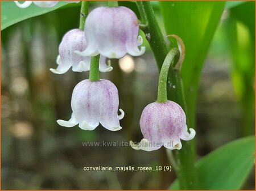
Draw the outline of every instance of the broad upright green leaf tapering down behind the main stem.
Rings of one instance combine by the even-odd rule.
[[[160,2],[167,35],[177,35],[185,44],[185,60],[181,69],[187,117],[195,128],[197,88],[210,41],[221,18],[225,2]],[[171,90],[169,91],[171,92]]]

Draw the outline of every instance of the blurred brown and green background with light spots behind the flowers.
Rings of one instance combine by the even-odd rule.
[[[91,3],[90,10],[105,4]],[[158,3],[152,4],[164,32]],[[254,7],[254,2],[244,6]],[[250,51],[255,37],[252,41],[248,25],[236,20],[241,46],[234,53],[227,24],[230,12],[222,14],[201,74],[197,159],[234,139],[254,134],[254,55]],[[130,147],[82,146],[82,142],[141,140],[139,118],[143,108],[156,100],[159,76],[146,40],[143,56],[112,60],[113,71],[101,73],[102,79],[111,80],[118,88],[119,107],[125,111],[122,130],[112,132],[98,126],[84,131],[78,126],[57,125],[57,119],[71,116],[73,88],[88,78],[88,72],[69,70],[57,75],[49,71],[56,68],[64,33],[79,26],[79,14],[79,5],[64,6],[1,33],[2,189],[167,189],[175,180],[174,172],[83,170],[99,165],[169,165],[164,148],[144,152]],[[240,65],[239,61],[249,64]],[[254,179],[251,172],[243,189],[254,189]]]

